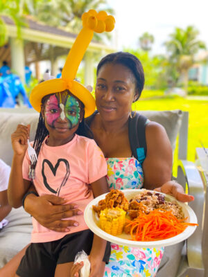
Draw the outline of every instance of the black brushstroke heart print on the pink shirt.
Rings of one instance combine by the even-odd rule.
[[[60,162],[63,162],[66,166],[66,174],[62,180],[62,184],[60,184],[60,186],[57,188],[57,190],[53,190],[53,188],[51,188],[51,186],[49,186],[48,182],[47,182],[47,179],[46,179],[46,175],[45,175],[45,172],[44,172],[44,165],[45,163],[48,164],[49,168],[51,169],[53,175],[55,176],[56,175],[56,171],[60,165]],[[57,163],[55,164],[55,167],[53,168],[53,165],[51,163],[51,161],[47,160],[47,159],[44,159],[42,161],[42,177],[43,177],[43,181],[44,181],[44,186],[51,191],[51,193],[55,193],[55,195],[57,194],[58,196],[60,195],[60,190],[62,188],[62,186],[65,186],[65,184],[67,183],[67,180],[69,178],[69,175],[70,175],[70,170],[69,170],[69,161],[67,161],[66,159],[58,159]]]

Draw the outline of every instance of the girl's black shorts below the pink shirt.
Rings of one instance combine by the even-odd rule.
[[[51,277],[55,274],[58,264],[73,262],[80,251],[89,255],[92,249],[94,233],[89,229],[65,235],[53,242],[32,243],[17,269],[21,277]],[[108,263],[110,258],[110,242],[107,242],[103,262]]]

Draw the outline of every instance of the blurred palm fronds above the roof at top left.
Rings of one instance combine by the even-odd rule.
[[[32,15],[50,26],[63,26],[78,33],[81,28],[81,17],[89,9],[101,10],[107,7],[107,0],[0,0],[0,46],[6,42],[6,24],[3,16],[15,22],[20,34],[25,26],[24,15]],[[113,13],[111,8],[105,8]]]

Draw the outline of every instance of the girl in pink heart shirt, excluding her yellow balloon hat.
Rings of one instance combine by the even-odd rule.
[[[21,260],[17,276],[54,276],[54,273],[55,276],[69,276],[76,253],[84,250],[89,255],[93,276],[103,277],[110,253],[105,253],[105,241],[93,238],[83,211],[93,195],[97,197],[108,191],[107,166],[94,140],[85,137],[89,130],[85,129],[84,113],[83,103],[69,91],[49,94],[42,99],[33,144],[38,154],[33,184],[38,195],[60,195],[73,203],[74,208],[79,208],[80,215],[71,218],[79,225],[74,224],[65,233],[58,233],[33,219],[32,244]],[[28,177],[31,164],[26,152],[28,136],[29,127],[24,125],[18,125],[12,134],[14,157],[9,199],[15,207],[20,206],[32,181]],[[92,190],[87,184],[91,184]]]

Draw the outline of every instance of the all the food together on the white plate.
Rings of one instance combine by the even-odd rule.
[[[166,201],[164,195],[150,190],[142,190],[129,202],[121,190],[111,190],[93,209],[105,232],[120,235],[124,231],[131,240],[143,242],[166,240],[187,226],[198,225],[186,222],[176,201]]]

